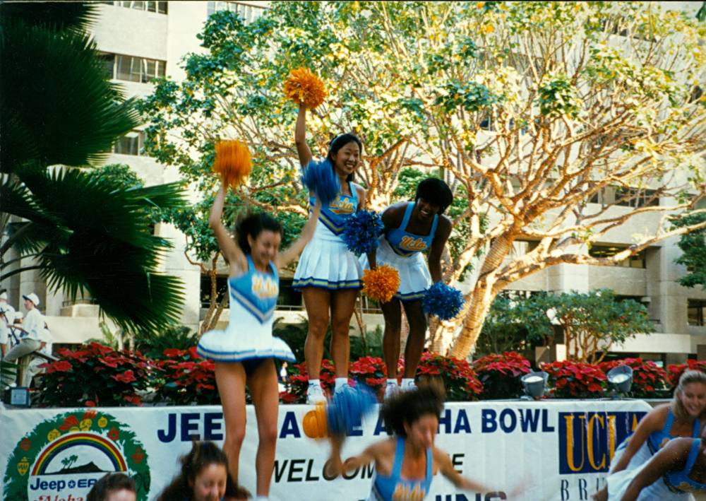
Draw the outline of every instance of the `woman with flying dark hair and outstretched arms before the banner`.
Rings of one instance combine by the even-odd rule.
[[[393,436],[372,444],[345,463],[340,457],[344,437],[332,437],[328,473],[338,475],[374,462],[368,501],[424,500],[436,473],[462,490],[489,492],[492,489],[461,476],[450,456],[434,445],[442,411],[443,391],[431,385],[391,395],[383,403],[381,414]]]

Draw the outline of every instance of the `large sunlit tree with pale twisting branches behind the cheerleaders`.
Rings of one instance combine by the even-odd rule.
[[[410,167],[438,170],[463,199],[445,280],[472,269],[472,288],[460,329],[439,329],[459,332],[450,354],[463,358],[510,283],[555,264],[608,266],[706,227],[662,218],[706,192],[694,90],[704,35],[650,2],[273,2],[247,25],[217,12],[185,80],[146,100],[148,148],[210,190],[213,142],[242,138],[255,159],[242,196],[269,206],[256,195],[270,192],[278,211],[302,214],[282,83],[313,69],[330,93],[307,122],[313,150],[356,131],[372,208],[394,200]],[[650,230],[613,257],[587,254],[632,220]],[[516,240],[539,244],[513,256]]]

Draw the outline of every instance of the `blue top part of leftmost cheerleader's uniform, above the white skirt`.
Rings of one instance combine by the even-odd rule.
[[[255,268],[250,254],[246,254],[246,257],[248,271],[228,279],[230,298],[264,324],[275,314],[277,295],[280,293],[280,276],[273,261],[270,261],[271,273],[263,273]]]

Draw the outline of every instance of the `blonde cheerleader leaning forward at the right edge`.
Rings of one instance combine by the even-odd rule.
[[[612,494],[609,497],[609,491],[615,490],[611,485],[623,485],[626,475],[635,475],[669,440],[699,437],[705,413],[706,374],[687,370],[679,378],[671,403],[653,408],[640,420],[633,435],[618,446],[611,461],[607,485],[594,495],[594,500],[614,499]]]

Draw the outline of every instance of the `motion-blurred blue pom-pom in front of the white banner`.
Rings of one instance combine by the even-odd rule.
[[[328,430],[334,435],[349,434],[363,423],[363,416],[371,412],[377,402],[375,394],[365,384],[345,385],[334,392],[326,407]]]

